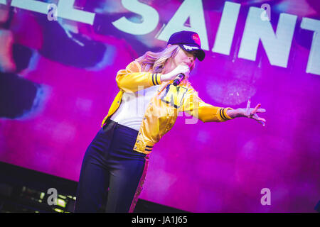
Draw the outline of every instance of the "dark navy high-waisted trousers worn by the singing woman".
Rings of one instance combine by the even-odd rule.
[[[149,155],[133,150],[138,131],[109,120],[82,161],[75,212],[133,211]]]

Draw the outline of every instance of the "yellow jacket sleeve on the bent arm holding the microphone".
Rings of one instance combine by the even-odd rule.
[[[147,87],[161,84],[161,74],[141,72],[139,62],[131,62],[125,70],[119,70],[116,77],[119,89],[124,92],[137,92]]]

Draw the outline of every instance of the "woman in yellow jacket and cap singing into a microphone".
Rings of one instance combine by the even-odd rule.
[[[75,212],[99,212],[102,207],[105,212],[132,212],[149,154],[180,112],[203,122],[243,116],[265,126],[256,114],[265,112],[260,104],[252,109],[248,101],[245,109],[232,109],[199,98],[188,76],[196,59],[204,57],[198,34],[181,31],[171,35],[163,51],[146,52],[117,73],[119,93],[82,162]]]

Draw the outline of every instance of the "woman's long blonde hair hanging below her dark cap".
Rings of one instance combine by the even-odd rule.
[[[142,65],[143,72],[161,73],[164,70],[164,65],[170,58],[174,58],[181,48],[178,45],[171,45],[166,47],[161,52],[147,51],[141,57],[136,59]],[[192,65],[190,71],[193,69]]]

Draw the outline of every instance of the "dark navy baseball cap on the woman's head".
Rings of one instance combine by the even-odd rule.
[[[178,31],[177,33],[173,33],[166,45],[168,44],[177,44],[180,48],[188,52],[197,50],[196,57],[200,61],[202,61],[206,56],[205,52],[201,49],[201,42],[198,33],[193,31]]]

